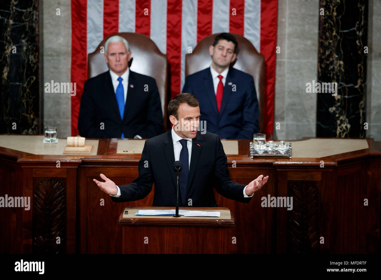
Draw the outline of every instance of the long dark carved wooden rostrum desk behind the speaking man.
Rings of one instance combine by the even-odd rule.
[[[293,153],[297,141],[309,139],[315,138],[293,141]],[[227,155],[231,179],[248,184],[264,174],[269,181],[248,204],[215,191],[218,206],[235,218],[230,253],[379,253],[381,142],[367,138],[367,149],[291,160],[251,159],[248,142],[239,140],[239,154]],[[0,208],[0,253],[122,253],[121,211],[152,206],[154,190],[113,203],[93,178],[103,173],[117,185],[132,182],[140,154],[116,154],[117,139],[99,139],[96,153],[86,156],[38,155],[19,146],[0,147],[0,196],[29,196],[32,206]],[[293,197],[293,210],[262,207],[269,195]]]

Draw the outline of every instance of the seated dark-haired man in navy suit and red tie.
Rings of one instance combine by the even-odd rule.
[[[182,92],[199,100],[200,118],[206,121],[207,131],[223,139],[253,139],[259,130],[253,76],[229,67],[238,53],[237,40],[221,33],[209,53],[211,66],[186,77]]]

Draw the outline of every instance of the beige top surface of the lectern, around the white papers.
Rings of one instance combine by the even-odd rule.
[[[172,208],[160,208],[160,210],[172,210],[172,209],[176,209],[176,207],[172,207]],[[230,210],[208,210],[208,209],[197,209],[197,208],[181,208],[181,210],[193,210],[193,211],[207,211],[207,212],[220,212],[220,216],[219,217],[184,217],[184,216],[180,216],[179,218],[174,218],[172,215],[158,215],[158,216],[145,216],[145,215],[135,215],[136,213],[138,213],[139,210],[157,210],[155,208],[152,208],[152,209],[149,209],[149,208],[146,208],[146,209],[131,209],[131,208],[126,208],[126,210],[128,210],[128,214],[124,214],[123,212],[123,218],[127,218],[127,219],[136,219],[136,218],[160,218],[160,219],[213,219],[213,220],[229,220],[231,219],[231,216],[230,216]]]

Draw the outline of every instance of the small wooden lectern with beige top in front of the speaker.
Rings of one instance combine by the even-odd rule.
[[[180,207],[180,210],[220,212],[220,217],[139,216],[138,210],[175,207],[127,207],[120,214],[124,254],[229,254],[236,252],[234,218],[224,207]],[[128,211],[128,213],[127,213]]]

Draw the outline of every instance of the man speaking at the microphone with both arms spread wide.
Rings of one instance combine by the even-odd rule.
[[[217,134],[198,131],[200,109],[193,94],[181,93],[168,104],[173,127],[146,140],[139,161],[139,176],[131,184],[116,186],[104,174],[105,182],[93,181],[114,202],[128,202],[146,197],[155,183],[152,206],[176,205],[176,172],[173,163],[181,161],[179,205],[218,207],[213,192],[226,198],[249,203],[254,192],[266,184],[269,176],[258,176],[247,186],[231,181],[227,158]],[[205,127],[205,126],[204,126]]]

